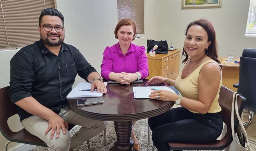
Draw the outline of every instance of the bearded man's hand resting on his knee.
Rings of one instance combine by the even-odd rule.
[[[56,129],[56,138],[60,136],[60,129],[62,129],[63,134],[66,133],[66,128],[68,129],[68,123],[55,113],[49,118],[48,124],[49,126],[45,131],[45,135],[47,135],[47,133],[52,129],[50,135],[51,139],[53,139]]]

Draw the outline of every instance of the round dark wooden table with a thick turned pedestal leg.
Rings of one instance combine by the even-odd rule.
[[[117,140],[110,150],[131,150],[133,140],[131,131],[133,120],[154,117],[168,111],[173,101],[159,101],[151,99],[135,99],[133,86],[145,86],[143,83],[131,85],[108,84],[107,94],[103,95],[104,103],[78,107],[76,101],[83,98],[69,98],[68,104],[72,111],[83,116],[104,121],[114,121]]]

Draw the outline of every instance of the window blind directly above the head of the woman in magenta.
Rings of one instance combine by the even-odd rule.
[[[144,34],[144,0],[117,0],[118,21],[129,18],[135,22],[137,34]]]

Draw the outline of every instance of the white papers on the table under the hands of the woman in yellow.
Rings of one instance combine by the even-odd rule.
[[[149,95],[151,94],[153,90],[152,88],[160,89],[160,90],[167,90],[173,93],[176,93],[180,95],[180,93],[177,91],[177,89],[173,86],[167,87],[167,86],[154,86],[154,87],[147,87],[147,86],[137,86],[132,87],[134,98],[149,98]]]

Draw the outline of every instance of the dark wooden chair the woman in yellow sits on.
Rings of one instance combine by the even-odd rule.
[[[227,132],[221,140],[215,140],[211,143],[182,143],[182,142],[169,142],[170,150],[222,150],[230,145],[233,141],[232,132],[231,132],[231,108],[232,108],[232,99],[234,92],[224,86],[221,86],[219,104],[221,106],[221,115],[223,122],[227,125]],[[241,116],[245,98],[243,96],[238,96],[238,110],[239,115]],[[236,115],[234,115],[236,118]],[[235,131],[238,126],[238,119],[235,121]],[[154,146],[153,149],[154,150]]]

